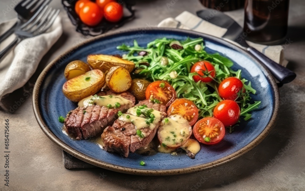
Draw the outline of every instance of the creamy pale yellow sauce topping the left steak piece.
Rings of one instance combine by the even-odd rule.
[[[104,106],[107,107],[110,104],[112,107],[116,107],[116,103],[120,103],[120,105],[129,104],[132,106],[132,102],[128,99],[123,98],[122,96],[89,96],[87,98],[82,99],[78,102],[78,106],[80,107],[88,107],[92,105]]]

